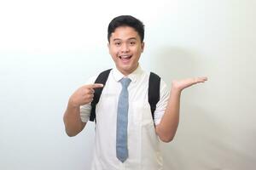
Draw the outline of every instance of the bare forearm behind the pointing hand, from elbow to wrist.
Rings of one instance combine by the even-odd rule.
[[[73,106],[71,104],[67,105],[63,121],[65,123],[66,133],[68,136],[77,135],[83,130],[86,124],[81,121],[79,106]]]

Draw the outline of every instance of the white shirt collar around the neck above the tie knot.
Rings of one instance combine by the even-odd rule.
[[[133,72],[131,72],[130,75],[126,76],[131,79],[131,82],[136,82],[137,79],[143,74],[143,70],[140,65],[137,66],[137,69]],[[116,82],[119,82],[122,78],[125,77],[117,68],[113,68],[112,71],[113,79]]]

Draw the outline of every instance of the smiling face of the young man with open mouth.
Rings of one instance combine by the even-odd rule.
[[[137,31],[130,26],[120,26],[111,34],[108,43],[109,54],[117,69],[125,76],[135,71],[143,53],[144,42]]]

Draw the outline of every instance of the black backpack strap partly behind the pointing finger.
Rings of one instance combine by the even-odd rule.
[[[101,74],[99,74],[99,76],[96,78],[95,83],[101,83],[105,86],[107,80],[108,80],[108,75],[110,73],[111,69],[108,69],[107,71],[102,71]],[[103,88],[104,88],[103,86]],[[95,88],[95,93],[94,93],[94,97],[93,100],[91,102],[91,111],[90,111],[90,121],[94,122],[94,120],[96,120],[96,105],[100,100],[100,97],[102,95],[102,90],[103,88]]]

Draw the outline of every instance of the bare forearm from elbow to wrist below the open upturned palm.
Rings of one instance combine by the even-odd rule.
[[[180,96],[181,90],[172,87],[165,114],[162,117],[160,124],[156,127],[156,133],[164,142],[172,141],[177,131],[179,122]]]

